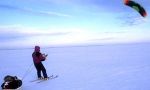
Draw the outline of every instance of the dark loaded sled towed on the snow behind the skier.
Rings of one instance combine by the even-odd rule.
[[[22,81],[17,76],[7,75],[4,77],[4,83],[2,83],[2,89],[17,89],[21,87]]]

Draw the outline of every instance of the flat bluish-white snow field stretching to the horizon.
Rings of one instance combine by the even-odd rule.
[[[32,64],[33,49],[0,50],[0,82],[6,75],[23,78],[22,90],[149,90],[150,43],[42,48],[49,75],[42,83]]]

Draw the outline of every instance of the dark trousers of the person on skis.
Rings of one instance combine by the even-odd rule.
[[[37,70],[38,78],[42,77],[41,76],[41,71],[43,73],[44,78],[47,78],[46,69],[45,69],[45,67],[43,66],[43,64],[41,62],[40,63],[34,63],[34,66],[35,66],[35,68]]]

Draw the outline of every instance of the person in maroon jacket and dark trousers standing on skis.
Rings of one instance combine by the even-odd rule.
[[[32,53],[32,58],[33,58],[34,66],[37,70],[38,79],[45,79],[45,80],[48,79],[46,69],[42,64],[42,61],[45,61],[46,57],[47,55],[42,54],[40,52],[40,46],[35,46],[34,52]],[[41,76],[41,72],[43,73],[43,77]]]

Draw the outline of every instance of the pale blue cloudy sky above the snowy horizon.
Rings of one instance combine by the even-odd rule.
[[[142,17],[123,0],[1,0],[0,48],[150,41],[150,1]]]

